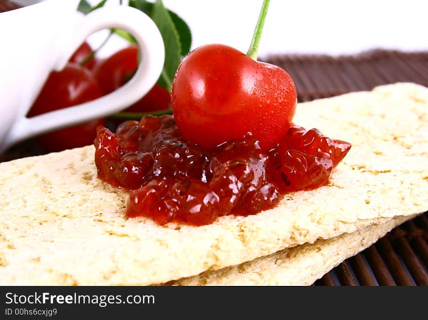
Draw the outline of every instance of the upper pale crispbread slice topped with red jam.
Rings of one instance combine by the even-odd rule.
[[[241,264],[428,209],[428,89],[303,103],[295,122],[353,144],[328,186],[209,226],[125,219],[93,147],[0,164],[0,284],[153,284]]]

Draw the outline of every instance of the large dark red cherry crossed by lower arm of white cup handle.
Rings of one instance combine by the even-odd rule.
[[[68,63],[60,72],[51,72],[28,116],[35,116],[57,109],[75,106],[102,96],[101,89],[92,74],[75,63]],[[62,151],[84,147],[93,143],[96,128],[105,120],[93,120],[36,138],[47,151]]]

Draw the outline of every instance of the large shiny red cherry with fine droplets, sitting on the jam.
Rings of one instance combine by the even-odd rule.
[[[294,82],[283,69],[222,44],[186,56],[172,86],[180,133],[204,148],[251,132],[270,150],[288,131],[296,103]]]

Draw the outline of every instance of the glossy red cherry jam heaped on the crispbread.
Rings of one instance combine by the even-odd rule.
[[[250,134],[205,150],[185,141],[170,115],[125,121],[116,134],[99,127],[94,145],[98,176],[130,191],[128,217],[196,226],[256,214],[287,192],[327,184],[351,148],[317,129],[292,126],[268,153]]]

